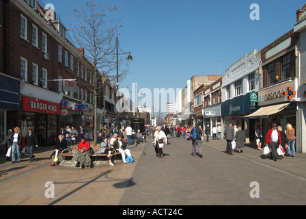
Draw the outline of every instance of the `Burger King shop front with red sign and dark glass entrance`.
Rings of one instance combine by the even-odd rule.
[[[57,141],[57,124],[60,105],[28,96],[21,99],[21,131],[27,134],[27,128],[33,127],[40,146],[53,145]]]

